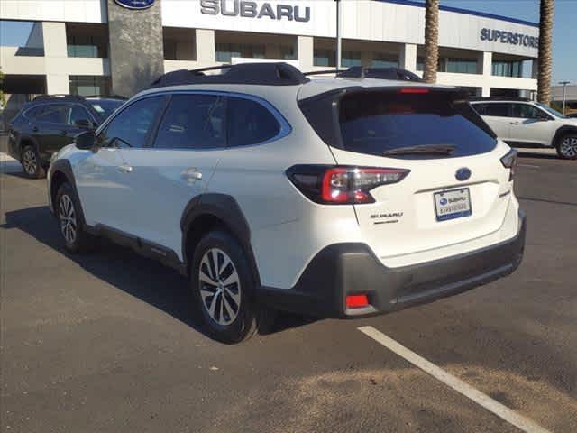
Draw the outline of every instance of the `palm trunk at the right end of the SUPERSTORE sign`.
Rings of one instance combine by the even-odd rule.
[[[537,74],[537,100],[542,104],[551,101],[551,51],[555,0],[541,0],[539,19],[539,70]]]

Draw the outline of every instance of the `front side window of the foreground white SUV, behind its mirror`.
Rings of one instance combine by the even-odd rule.
[[[98,142],[103,146],[144,147],[163,101],[164,97],[146,97],[127,106],[100,133]]]

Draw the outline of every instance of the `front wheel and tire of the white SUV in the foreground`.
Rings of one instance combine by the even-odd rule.
[[[60,186],[53,206],[66,249],[70,253],[87,252],[94,243],[94,237],[84,228],[80,203],[69,183]]]

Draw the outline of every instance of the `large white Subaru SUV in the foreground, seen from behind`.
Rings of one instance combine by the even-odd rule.
[[[205,72],[162,76],[54,157],[70,252],[106,236],[175,267],[231,343],[258,311],[367,316],[517,269],[516,152],[457,88],[402,69]]]

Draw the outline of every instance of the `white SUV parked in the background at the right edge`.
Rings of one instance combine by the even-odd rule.
[[[524,98],[472,101],[497,136],[517,147],[548,147],[566,160],[577,160],[577,119]]]

